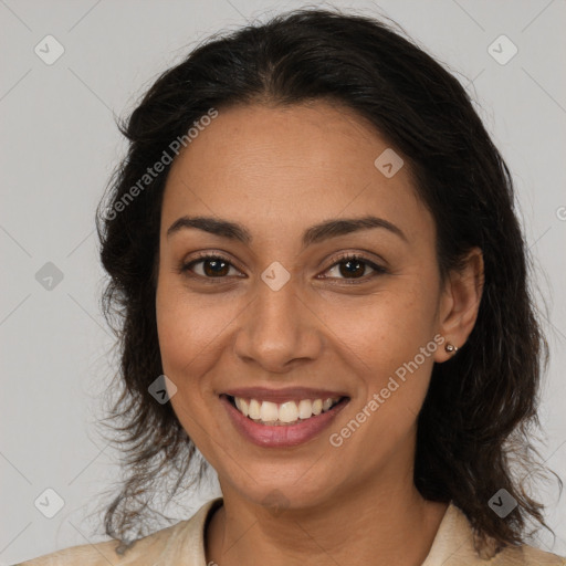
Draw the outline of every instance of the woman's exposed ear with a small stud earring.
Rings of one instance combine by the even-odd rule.
[[[434,361],[446,361],[453,353],[444,346],[461,348],[473,329],[483,293],[483,253],[473,248],[465,256],[463,268],[450,272],[439,305],[439,333],[446,342],[434,354]]]

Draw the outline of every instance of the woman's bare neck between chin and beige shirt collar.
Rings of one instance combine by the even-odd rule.
[[[426,559],[448,507],[410,485],[354,488],[324,505],[270,512],[223,489],[207,532],[207,564],[403,564]]]

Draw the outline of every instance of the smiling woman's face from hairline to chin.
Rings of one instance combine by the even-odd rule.
[[[411,478],[417,416],[448,357],[439,334],[463,340],[447,333],[434,223],[400,165],[355,114],[323,102],[220,109],[172,164],[159,346],[175,412],[224,495],[307,506]],[[380,220],[355,223],[366,217]],[[337,224],[314,228],[326,222]],[[305,419],[255,422],[230,392],[264,422]],[[306,418],[317,398],[343,400]]]

